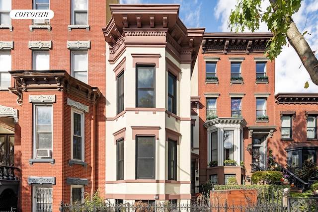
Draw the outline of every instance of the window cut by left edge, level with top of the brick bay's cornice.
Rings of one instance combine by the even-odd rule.
[[[0,89],[7,89],[11,85],[11,53],[0,53]]]

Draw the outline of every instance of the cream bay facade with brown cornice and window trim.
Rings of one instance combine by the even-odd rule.
[[[187,29],[177,4],[110,8],[105,196],[190,200],[189,84],[204,29]]]

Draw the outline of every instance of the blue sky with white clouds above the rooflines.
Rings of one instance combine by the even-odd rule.
[[[228,18],[237,0],[120,0],[120,3],[177,3],[180,4],[179,17],[186,27],[205,27],[205,32],[230,32]],[[267,5],[269,1],[264,0],[263,6]],[[318,53],[318,1],[303,0],[293,19],[300,31],[310,33],[305,38],[312,50]],[[257,32],[269,31],[265,24],[261,24]],[[318,85],[310,80],[291,46],[284,47],[275,65],[275,93],[318,92]],[[307,89],[304,88],[306,81],[310,84]]]

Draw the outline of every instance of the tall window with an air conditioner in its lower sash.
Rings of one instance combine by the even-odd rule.
[[[52,158],[52,105],[34,105],[36,158]]]

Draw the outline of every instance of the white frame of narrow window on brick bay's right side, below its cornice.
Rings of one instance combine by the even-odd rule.
[[[81,160],[79,159],[74,159],[74,152],[73,152],[73,132],[74,132],[74,113],[78,113],[80,115],[80,129],[81,129]],[[81,110],[77,110],[75,108],[71,109],[71,160],[75,160],[75,161],[82,161],[84,162],[84,152],[85,152],[85,146],[84,146],[84,138],[85,138],[85,129],[84,129],[84,112]]]

